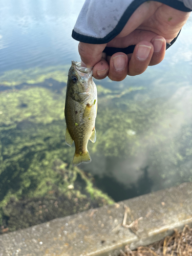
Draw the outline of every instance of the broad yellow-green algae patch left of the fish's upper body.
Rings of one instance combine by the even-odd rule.
[[[53,94],[45,88],[29,88],[0,94],[0,125],[16,124],[23,120],[50,123],[63,119],[65,90]]]

